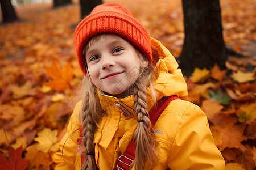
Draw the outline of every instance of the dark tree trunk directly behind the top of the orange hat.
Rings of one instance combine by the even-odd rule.
[[[80,0],[81,18],[84,18],[86,15],[90,14],[94,7],[101,4],[101,0]]]

